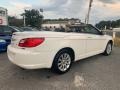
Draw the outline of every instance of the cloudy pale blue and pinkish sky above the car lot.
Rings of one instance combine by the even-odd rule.
[[[90,23],[101,20],[120,19],[120,0],[93,0]],[[79,18],[84,22],[89,0],[0,0],[0,7],[7,8],[8,14],[20,18],[24,9],[44,10],[44,18]]]

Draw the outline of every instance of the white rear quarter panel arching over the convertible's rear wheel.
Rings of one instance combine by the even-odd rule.
[[[75,37],[71,36],[63,38],[46,38],[45,42],[33,50],[37,52],[51,52],[53,55],[52,58],[54,59],[59,50],[67,47],[73,49],[75,53],[75,59],[78,60],[82,55],[85,54],[86,41],[85,39],[76,39]]]

